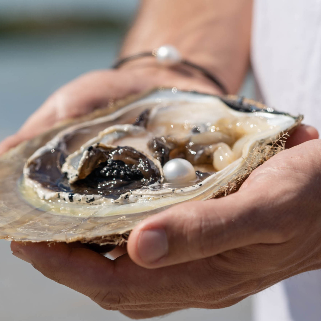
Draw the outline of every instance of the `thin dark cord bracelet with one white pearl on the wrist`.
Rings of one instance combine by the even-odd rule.
[[[228,94],[226,87],[217,79],[216,76],[214,76],[212,73],[210,73],[208,70],[206,70],[202,66],[196,65],[188,60],[182,59],[182,56],[179,53],[179,51],[172,45],[161,46],[160,48],[152,52],[142,52],[133,56],[122,58],[118,60],[112,66],[112,68],[117,69],[128,61],[139,59],[142,57],[150,57],[150,56],[154,56],[160,65],[175,66],[178,64],[183,64],[183,65],[190,66],[194,69],[197,69],[206,78],[214,82],[221,89],[224,95]]]

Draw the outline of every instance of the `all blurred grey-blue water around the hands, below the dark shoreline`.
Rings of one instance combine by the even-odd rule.
[[[40,0],[39,0],[40,1]],[[79,30],[0,38],[0,139],[13,134],[50,93],[86,71],[109,66],[122,30]],[[247,82],[246,95],[252,95]],[[57,284],[11,255],[0,240],[1,321],[121,321],[90,299]],[[249,321],[251,301],[221,310],[180,311],[164,321]]]

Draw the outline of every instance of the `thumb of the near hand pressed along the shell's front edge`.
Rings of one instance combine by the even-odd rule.
[[[260,230],[262,217],[253,220],[257,202],[248,194],[187,202],[149,217],[131,232],[129,256],[138,265],[158,268],[261,243],[266,231]]]

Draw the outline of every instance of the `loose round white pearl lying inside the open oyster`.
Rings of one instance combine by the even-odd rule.
[[[169,160],[163,166],[164,178],[172,183],[186,183],[196,178],[193,165],[183,158]]]

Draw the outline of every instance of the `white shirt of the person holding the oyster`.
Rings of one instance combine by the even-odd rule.
[[[265,103],[321,133],[321,0],[255,0],[252,66]],[[321,231],[320,231],[321,233]],[[321,270],[254,297],[255,321],[320,321]]]

